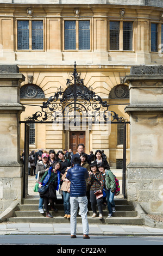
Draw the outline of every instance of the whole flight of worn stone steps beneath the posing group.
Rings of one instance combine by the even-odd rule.
[[[128,204],[126,199],[115,198],[116,212],[112,218],[107,218],[108,208],[103,206],[103,219],[98,219],[98,208],[97,217],[91,218],[92,210],[91,206],[88,206],[89,212],[87,212],[88,221],[90,224],[135,224],[142,225],[143,219],[137,217],[137,212],[134,211],[133,205]],[[39,196],[33,198],[24,198],[22,204],[18,205],[18,209],[14,212],[14,216],[8,220],[16,223],[70,223],[70,219],[64,218],[64,207],[62,199],[57,199],[55,207],[58,212],[49,212],[53,215],[53,218],[47,218],[46,213],[40,214],[38,211]],[[77,214],[77,223],[82,224],[82,217]]]

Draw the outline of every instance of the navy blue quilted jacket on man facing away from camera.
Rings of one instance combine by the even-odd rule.
[[[67,170],[66,178],[71,181],[70,197],[86,196],[86,179],[89,177],[87,169],[81,167],[79,163]]]

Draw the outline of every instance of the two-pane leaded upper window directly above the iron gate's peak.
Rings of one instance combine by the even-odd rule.
[[[65,50],[90,50],[90,21],[65,21],[64,36]]]

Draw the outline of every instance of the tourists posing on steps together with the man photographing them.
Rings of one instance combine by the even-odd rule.
[[[48,153],[43,149],[29,154],[29,162],[33,160],[34,168],[30,169],[30,175],[36,174],[40,191],[44,190],[46,184],[48,188],[45,192],[40,192],[39,212],[46,211],[46,216],[52,218],[49,206],[52,211],[57,212],[55,207],[57,193],[62,194],[64,202],[64,218],[71,219],[71,238],[76,238],[76,217],[82,217],[83,234],[85,239],[89,237],[89,225],[87,222],[87,205],[91,205],[92,218],[97,217],[96,204],[98,206],[98,218],[103,218],[103,205],[108,206],[109,215],[115,212],[115,187],[114,174],[111,172],[109,163],[103,150],[92,151],[87,155],[84,153],[84,144],[78,145],[78,152],[72,153],[70,149],[59,150],[55,154],[54,150]],[[32,161],[31,161],[32,162]],[[30,162],[30,164],[31,164]]]

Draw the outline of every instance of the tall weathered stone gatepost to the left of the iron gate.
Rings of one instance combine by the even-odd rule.
[[[23,191],[23,164],[20,162],[20,83],[24,76],[16,65],[0,65],[0,211],[17,200]]]

